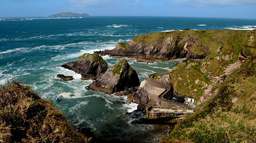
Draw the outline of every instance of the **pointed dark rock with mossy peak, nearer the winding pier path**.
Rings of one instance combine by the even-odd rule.
[[[104,75],[101,75],[97,81],[91,83],[88,88],[112,94],[138,85],[139,78],[136,71],[126,60],[120,60],[109,68]]]

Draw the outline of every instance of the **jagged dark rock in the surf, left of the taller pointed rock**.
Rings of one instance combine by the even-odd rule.
[[[108,69],[108,64],[98,54],[85,53],[76,61],[65,63],[61,67],[71,69],[82,75],[82,79],[96,80]]]

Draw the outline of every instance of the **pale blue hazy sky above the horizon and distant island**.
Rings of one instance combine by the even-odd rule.
[[[0,17],[183,16],[256,19],[256,0],[0,0]]]

